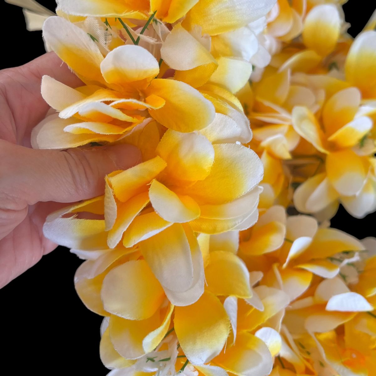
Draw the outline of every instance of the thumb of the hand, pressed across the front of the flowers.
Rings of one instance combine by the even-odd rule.
[[[99,196],[105,175],[138,164],[141,152],[127,144],[57,151],[0,141],[0,160],[0,199],[5,195],[18,205],[33,205]]]

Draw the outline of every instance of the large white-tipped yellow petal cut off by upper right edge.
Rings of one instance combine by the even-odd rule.
[[[364,98],[376,95],[376,32],[360,33],[347,54],[346,79],[358,87]]]

